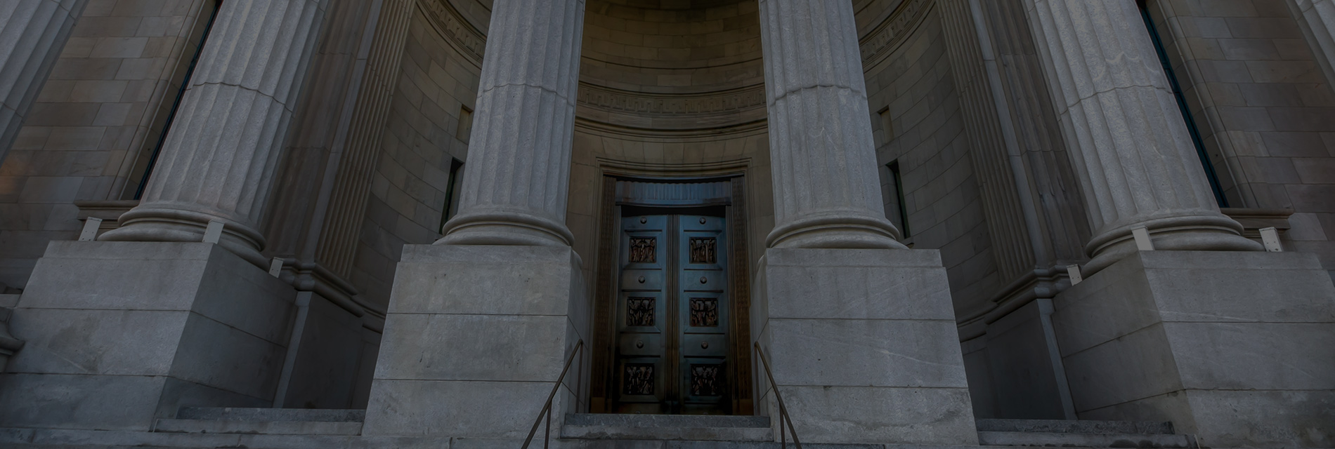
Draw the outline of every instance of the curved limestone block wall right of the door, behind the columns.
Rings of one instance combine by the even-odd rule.
[[[951,280],[956,316],[967,316],[996,294],[996,258],[988,234],[979,181],[955,91],[940,16],[929,1],[908,11],[902,24],[888,27],[902,36],[862,37],[866,89],[877,163],[885,185],[886,217],[898,223],[889,171],[898,161],[904,207],[914,249],[940,249]],[[917,20],[913,13],[920,15]],[[864,36],[874,31],[864,29]],[[873,45],[885,44],[877,49]],[[884,112],[880,113],[878,111]]]

